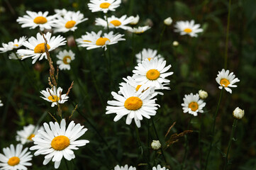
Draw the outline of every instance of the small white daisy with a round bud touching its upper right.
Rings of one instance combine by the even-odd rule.
[[[199,98],[199,94],[189,94],[185,95],[183,98],[184,103],[182,103],[183,106],[183,112],[189,113],[194,116],[197,116],[197,113],[204,113],[203,108],[206,106],[206,103],[204,103],[203,100]]]

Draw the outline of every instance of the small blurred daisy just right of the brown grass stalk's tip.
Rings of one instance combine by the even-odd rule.
[[[62,69],[70,69],[70,62],[74,60],[74,52],[72,50],[63,50],[60,51],[57,55],[57,64],[59,65],[59,68]]]

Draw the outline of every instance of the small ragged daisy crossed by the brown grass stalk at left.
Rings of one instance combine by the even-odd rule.
[[[46,88],[46,91],[40,91],[41,94],[43,94],[44,97],[40,96],[41,98],[45,99],[45,101],[52,102],[52,107],[57,105],[58,103],[62,104],[67,101],[67,96],[66,94],[62,94],[62,88],[58,87],[56,90],[56,87],[53,86],[52,89]]]

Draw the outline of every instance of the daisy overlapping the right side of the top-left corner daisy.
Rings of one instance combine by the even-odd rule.
[[[87,21],[88,18],[84,18],[84,14],[80,11],[72,12],[68,11],[65,16],[57,16],[55,23],[52,25],[54,27],[54,33],[67,33],[69,30],[76,30],[77,25],[84,21]]]

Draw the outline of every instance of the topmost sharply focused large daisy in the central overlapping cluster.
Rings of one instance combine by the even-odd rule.
[[[133,78],[138,84],[147,84],[147,86],[155,87],[155,89],[169,89],[165,87],[169,84],[169,79],[165,79],[173,74],[173,72],[167,72],[171,68],[171,64],[165,67],[166,61],[158,60],[155,57],[152,60],[143,60],[142,63],[138,63],[138,66],[133,70]]]

